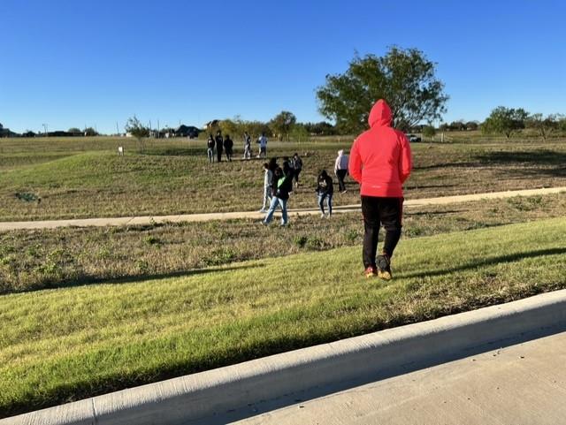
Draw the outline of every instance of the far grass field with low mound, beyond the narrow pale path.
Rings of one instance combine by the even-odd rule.
[[[315,204],[317,172],[332,170],[336,151],[351,141],[270,143],[270,156],[310,153],[291,208]],[[126,145],[124,157],[115,154],[119,144]],[[566,183],[563,139],[417,143],[413,151],[407,198]],[[210,165],[202,140],[150,140],[143,154],[126,139],[0,140],[0,171],[2,221],[255,210],[263,189],[260,160]],[[340,202],[357,201],[349,180]]]

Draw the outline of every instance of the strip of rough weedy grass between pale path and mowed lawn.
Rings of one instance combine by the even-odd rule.
[[[337,195],[339,196],[339,195]],[[407,209],[403,237],[563,216],[566,194]],[[362,243],[360,213],[293,217],[287,229],[254,220],[0,232],[0,294],[140,281],[191,270]]]

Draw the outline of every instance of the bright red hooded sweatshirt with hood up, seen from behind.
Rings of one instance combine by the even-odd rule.
[[[391,109],[384,100],[373,105],[368,123],[370,129],[354,140],[348,171],[362,185],[362,195],[400,198],[412,168],[409,140],[391,127]]]

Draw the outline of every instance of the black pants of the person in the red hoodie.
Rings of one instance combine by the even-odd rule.
[[[362,214],[365,232],[363,234],[363,267],[375,267],[378,252],[379,226],[386,230],[383,253],[393,255],[401,238],[403,198],[381,198],[362,196]]]

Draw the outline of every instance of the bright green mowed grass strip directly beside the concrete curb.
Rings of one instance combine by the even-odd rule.
[[[566,219],[0,297],[2,415],[566,287]]]

